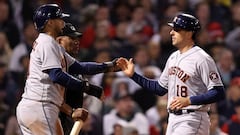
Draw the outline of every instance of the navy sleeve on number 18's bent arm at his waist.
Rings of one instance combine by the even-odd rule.
[[[207,91],[207,93],[191,96],[192,105],[211,104],[225,98],[225,90],[223,86],[215,86],[214,88]]]

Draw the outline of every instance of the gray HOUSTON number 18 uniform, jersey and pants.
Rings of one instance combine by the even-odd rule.
[[[168,90],[168,107],[176,96],[190,97],[201,95],[212,89],[214,86],[223,86],[214,60],[198,46],[194,46],[182,54],[180,51],[174,52],[168,58],[166,67],[158,82],[162,87]],[[185,121],[183,123],[186,123],[186,125],[182,126],[182,131],[180,131],[181,129],[177,131],[177,128],[175,128],[176,130],[174,131],[174,129],[170,129],[170,126],[168,126],[168,134],[180,135],[181,132],[182,134],[188,134],[191,133],[194,128],[195,130],[196,128],[202,128],[202,133],[198,133],[207,135],[208,131],[206,129],[209,127],[206,126],[209,125],[207,124],[209,123],[209,118],[206,112],[210,109],[210,105],[190,105],[183,109],[201,110],[202,112],[195,112],[195,114],[201,116],[202,119],[199,119],[198,115],[196,115],[196,117],[191,116],[194,114],[189,115],[189,118],[186,116],[183,117],[183,115],[177,116],[170,114],[169,124],[171,126],[176,126],[181,121]],[[195,123],[193,125],[187,124],[187,121],[190,121],[191,123],[191,120],[196,120],[196,122],[204,121],[205,126],[196,124],[196,122],[193,122]],[[197,125],[198,127],[194,127],[194,125]],[[183,127],[189,127],[192,129],[189,129],[188,132],[188,130],[183,130],[185,129]]]

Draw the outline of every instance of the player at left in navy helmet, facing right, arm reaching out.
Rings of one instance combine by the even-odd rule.
[[[68,16],[56,4],[42,5],[34,13],[33,21],[40,34],[33,44],[29,74],[16,112],[24,135],[59,134],[58,113],[63,104],[65,88],[81,90],[88,86],[85,81],[74,78],[67,71],[92,75],[114,67],[112,62],[79,64],[65,52],[56,38],[64,28],[63,17]],[[76,110],[79,112],[79,109]],[[69,114],[78,117],[75,112]]]

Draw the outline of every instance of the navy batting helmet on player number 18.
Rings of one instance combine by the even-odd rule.
[[[185,13],[178,14],[176,17],[174,17],[171,23],[168,23],[168,25],[173,28],[179,28],[193,32],[197,32],[201,29],[199,20],[196,17]]]

